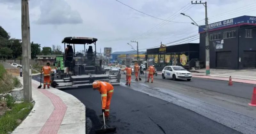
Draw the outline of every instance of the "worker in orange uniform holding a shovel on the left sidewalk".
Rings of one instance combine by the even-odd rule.
[[[51,72],[54,72],[52,71],[51,67],[50,67],[50,63],[46,63],[46,66],[44,66],[41,70],[41,73],[44,72],[44,89],[45,89],[45,86],[46,86],[46,83],[47,83],[47,88],[50,88],[50,80],[51,80],[51,76],[50,76],[50,73]]]

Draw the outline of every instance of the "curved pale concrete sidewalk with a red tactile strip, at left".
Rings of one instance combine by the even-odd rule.
[[[23,77],[19,77],[21,81]],[[55,88],[37,89],[32,80],[35,105],[13,134],[85,134],[85,106],[73,95]]]

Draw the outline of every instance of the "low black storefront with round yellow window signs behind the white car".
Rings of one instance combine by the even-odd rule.
[[[148,64],[155,65],[158,71],[162,71],[167,65],[179,65],[189,69],[190,61],[199,59],[199,43],[147,49],[146,59]]]

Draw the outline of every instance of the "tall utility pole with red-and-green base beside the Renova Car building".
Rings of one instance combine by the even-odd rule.
[[[204,3],[193,3],[193,1],[191,1],[191,4],[203,4],[205,7],[205,71],[206,71],[206,75],[210,74],[210,42],[209,42],[209,27],[208,27],[208,18],[207,18],[207,2]]]

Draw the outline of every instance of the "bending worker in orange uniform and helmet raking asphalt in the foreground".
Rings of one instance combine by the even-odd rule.
[[[102,100],[102,113],[104,112],[104,116],[108,119],[110,101],[112,98],[112,94],[114,92],[114,87],[108,82],[94,81],[92,83],[92,88],[93,90],[100,91],[101,100]]]

